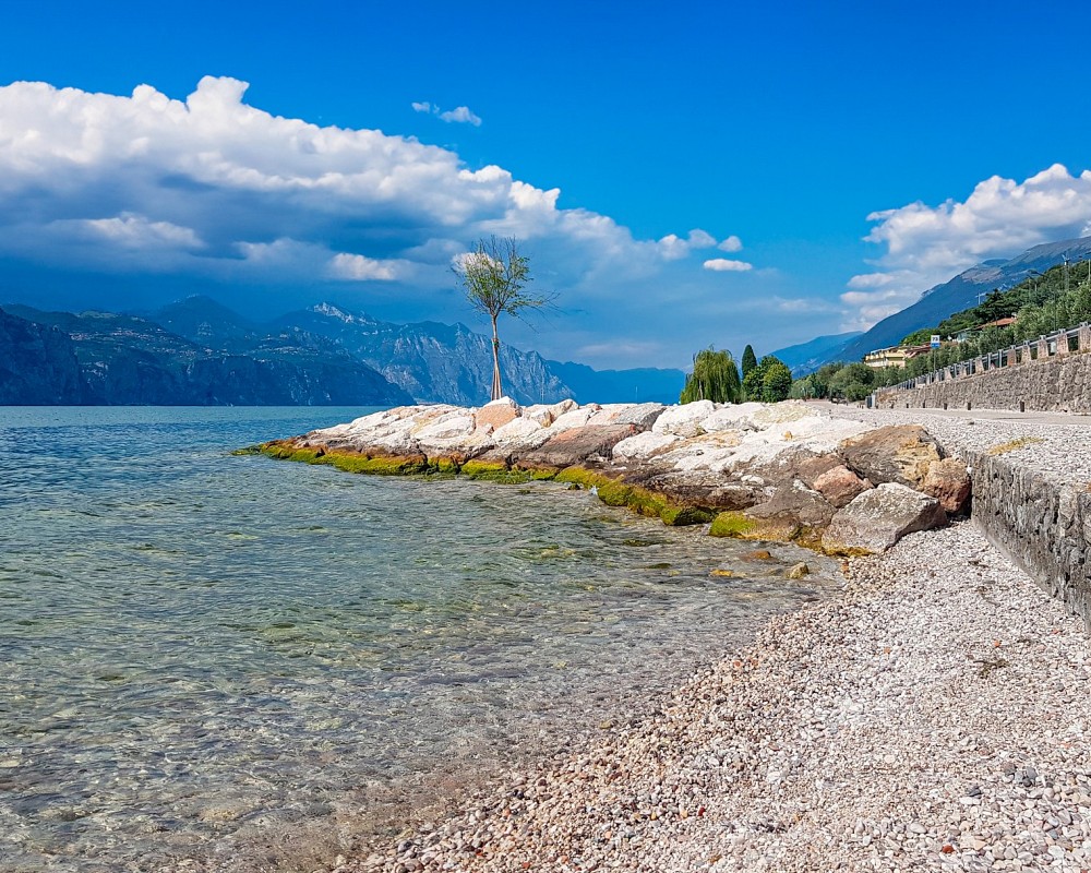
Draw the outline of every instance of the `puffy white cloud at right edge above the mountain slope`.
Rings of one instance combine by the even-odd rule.
[[[1054,164],[1022,182],[993,176],[964,201],[910,203],[867,216],[867,242],[885,251],[876,270],[853,276],[841,296],[849,326],[866,327],[922,291],[990,258],[1010,258],[1042,242],[1091,231],[1091,171]]]

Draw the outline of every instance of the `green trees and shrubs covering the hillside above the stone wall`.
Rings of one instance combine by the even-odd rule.
[[[1008,318],[1015,318],[1016,322],[1005,327],[985,326]],[[924,345],[935,334],[944,342],[938,349],[913,358],[904,368],[877,370],[860,362],[827,363],[817,372],[796,380],[792,396],[862,400],[876,388],[1087,321],[1091,321],[1091,261],[1067,267],[1060,264],[1007,290],[993,290],[980,304],[956,312],[935,327],[922,327],[909,334],[901,345]],[[962,342],[954,342],[960,334]]]

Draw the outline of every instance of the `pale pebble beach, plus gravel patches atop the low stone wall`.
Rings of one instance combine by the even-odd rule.
[[[1023,435],[909,415],[949,451]],[[1020,451],[1062,475],[1056,447],[1087,438],[1043,430]],[[559,749],[337,870],[1091,870],[1082,622],[971,522],[846,576],[637,726]]]

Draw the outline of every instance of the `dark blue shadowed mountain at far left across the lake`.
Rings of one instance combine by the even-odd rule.
[[[202,347],[137,315],[5,309],[9,333],[16,336],[11,346],[25,352],[12,366],[9,342],[0,335],[0,357],[9,361],[8,372],[0,372],[0,396],[17,393],[17,403],[387,406],[412,400],[343,349],[293,331],[233,354]],[[36,346],[33,336],[27,339],[27,328],[19,321],[33,325],[32,333],[43,342]],[[68,354],[74,358],[76,385],[62,370]],[[63,372],[65,390],[58,393],[45,384],[39,391],[21,388],[28,380],[33,383],[40,368]]]

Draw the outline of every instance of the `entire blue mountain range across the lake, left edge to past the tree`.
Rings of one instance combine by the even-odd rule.
[[[251,321],[190,297],[154,312],[0,309],[0,404],[478,405],[491,338],[463,324],[394,324],[331,303]],[[681,370],[597,371],[501,347],[505,392],[674,402]],[[571,383],[570,383],[571,381]]]

